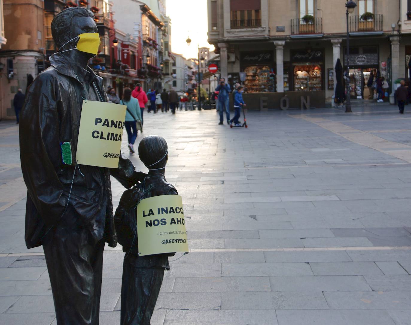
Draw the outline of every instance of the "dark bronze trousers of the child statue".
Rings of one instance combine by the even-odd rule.
[[[135,257],[129,255],[123,262],[120,324],[150,325],[164,268],[136,268],[130,259]]]

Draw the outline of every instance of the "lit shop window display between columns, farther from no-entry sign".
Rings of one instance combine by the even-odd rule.
[[[294,67],[294,90],[321,90],[321,67],[318,64],[296,65]]]

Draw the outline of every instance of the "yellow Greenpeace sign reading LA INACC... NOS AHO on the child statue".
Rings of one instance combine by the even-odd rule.
[[[180,195],[160,195],[137,205],[139,256],[188,252]]]

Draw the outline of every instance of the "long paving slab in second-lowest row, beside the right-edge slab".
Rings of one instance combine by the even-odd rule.
[[[321,292],[222,292],[221,309],[327,309]]]

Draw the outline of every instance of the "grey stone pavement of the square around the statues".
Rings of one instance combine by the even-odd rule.
[[[411,114],[249,112],[247,129],[215,111],[144,118],[169,143],[191,249],[152,325],[411,324]],[[115,205],[123,190],[113,181]],[[1,122],[0,323],[55,324],[42,248],[24,245],[25,195],[18,126]],[[104,253],[100,324],[120,323],[123,255]]]

